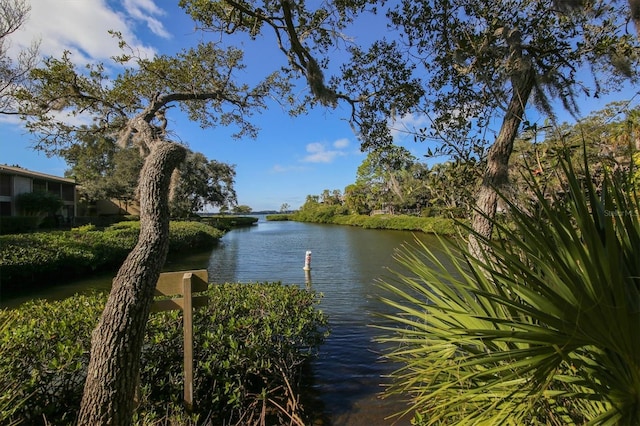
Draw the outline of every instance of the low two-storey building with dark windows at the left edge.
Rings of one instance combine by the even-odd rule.
[[[46,191],[60,197],[63,206],[58,214],[63,220],[70,222],[76,216],[75,180],[33,172],[21,167],[0,165],[0,216],[19,215],[16,196],[37,191]]]

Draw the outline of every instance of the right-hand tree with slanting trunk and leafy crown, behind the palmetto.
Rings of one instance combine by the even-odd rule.
[[[530,99],[550,117],[554,98],[577,114],[578,91],[587,90],[579,69],[594,71],[594,96],[637,78],[638,44],[624,33],[619,18],[624,15],[619,4],[604,1],[593,3],[587,13],[565,13],[553,2],[529,0],[404,1],[391,12],[392,22],[403,30],[406,52],[428,73],[428,98],[420,109],[434,117],[433,131],[420,137],[444,136],[449,141],[444,153],[471,149],[486,158],[475,231],[491,236],[497,191],[506,190],[513,142]],[[490,142],[480,132],[500,115],[502,124]]]

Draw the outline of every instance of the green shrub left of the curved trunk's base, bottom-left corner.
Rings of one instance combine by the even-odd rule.
[[[11,327],[0,330],[0,377],[13,387],[0,401],[26,398],[0,413],[26,424],[68,424],[75,419],[89,362],[91,330],[106,296],[74,296],[61,302],[29,302],[0,312]],[[8,408],[8,407],[7,407]]]

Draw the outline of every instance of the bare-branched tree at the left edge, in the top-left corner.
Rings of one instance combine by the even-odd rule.
[[[0,0],[0,114],[16,114],[14,93],[35,66],[38,43],[21,51],[15,60],[9,57],[9,36],[27,20],[31,6],[26,0]]]

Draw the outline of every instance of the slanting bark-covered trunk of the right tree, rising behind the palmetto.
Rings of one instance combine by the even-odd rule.
[[[524,117],[527,101],[533,90],[535,74],[531,64],[520,59],[520,72],[511,79],[513,93],[507,107],[500,132],[487,155],[487,166],[476,198],[476,208],[471,220],[473,231],[481,239],[490,239],[493,233],[493,219],[498,206],[498,191],[509,183],[509,158],[513,142]],[[469,236],[469,252],[481,258],[483,248],[475,235]]]

